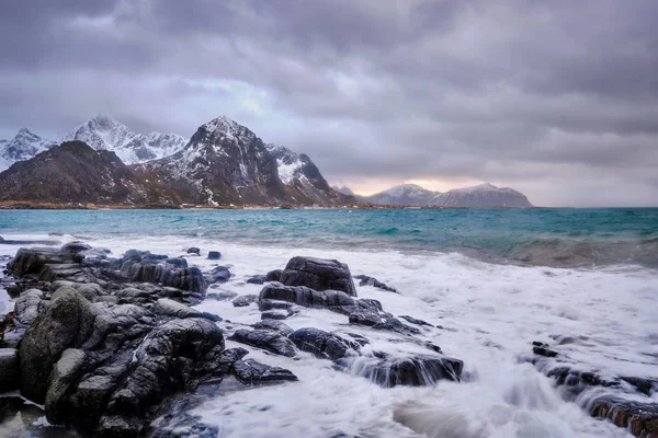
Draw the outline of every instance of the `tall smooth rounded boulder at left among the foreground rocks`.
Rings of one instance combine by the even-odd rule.
[[[67,348],[81,346],[93,330],[91,303],[72,288],[58,289],[21,342],[21,394],[35,403],[46,399],[50,371]]]

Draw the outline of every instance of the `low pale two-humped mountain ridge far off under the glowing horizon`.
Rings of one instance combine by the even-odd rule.
[[[496,187],[489,183],[455,188],[445,193],[428,191],[416,184],[402,184],[372,196],[358,196],[358,198],[374,205],[410,207],[533,207],[522,193],[510,187]]]

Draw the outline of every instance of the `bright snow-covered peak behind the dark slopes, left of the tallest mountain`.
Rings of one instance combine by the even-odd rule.
[[[80,125],[63,141],[79,140],[97,150],[111,150],[126,164],[172,155],[188,142],[177,134],[137,134],[107,115],[99,115]]]

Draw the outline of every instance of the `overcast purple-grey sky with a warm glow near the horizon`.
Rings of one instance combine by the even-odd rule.
[[[658,206],[655,0],[0,4],[0,138],[226,115],[371,194],[490,182]]]

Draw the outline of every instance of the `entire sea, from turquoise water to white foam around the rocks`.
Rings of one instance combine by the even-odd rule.
[[[208,291],[238,295],[258,293],[262,286],[247,279],[293,256],[339,260],[399,292],[356,281],[360,297],[438,326],[420,338],[465,364],[460,383],[382,388],[358,361],[344,370],[251,348],[248,357],[299,381],[227,391],[194,407],[220,437],[632,437],[587,413],[594,391],[606,389],[566,396],[532,364],[533,342],[555,346],[574,369],[658,380],[656,208],[0,210],[0,235],[19,241],[0,244],[0,256],[14,255],[20,241],[80,240],[115,256],[184,255],[202,270],[217,264],[207,252],[219,251],[235,276]],[[191,246],[202,256],[189,256]],[[0,289],[0,314],[12,307]],[[238,325],[260,320],[254,306],[207,299],[196,308]],[[305,309],[285,322],[356,332],[370,339],[366,349],[392,356],[427,353],[329,311]],[[658,403],[658,393],[621,396]],[[38,413],[16,418],[4,418],[0,436],[57,430]]]

